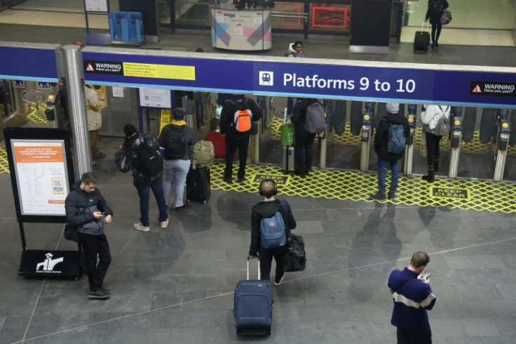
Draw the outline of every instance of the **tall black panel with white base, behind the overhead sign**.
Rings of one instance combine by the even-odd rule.
[[[352,0],[350,53],[388,54],[393,0]]]

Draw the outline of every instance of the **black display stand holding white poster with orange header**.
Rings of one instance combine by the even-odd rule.
[[[27,250],[23,228],[23,223],[67,222],[64,198],[75,176],[69,132],[55,128],[5,128],[4,138],[22,239],[19,274],[78,279],[79,244],[77,251]],[[34,196],[33,192],[38,194]]]

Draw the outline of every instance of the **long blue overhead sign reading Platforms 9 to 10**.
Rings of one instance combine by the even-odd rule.
[[[182,55],[183,54],[183,55]],[[83,53],[86,82],[349,100],[516,107],[514,72],[395,62]],[[301,60],[301,59],[299,59]],[[338,62],[337,62],[338,63]],[[505,69],[508,70],[508,69]]]

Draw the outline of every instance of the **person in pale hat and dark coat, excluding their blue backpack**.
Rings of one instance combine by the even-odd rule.
[[[386,105],[388,112],[386,117],[380,121],[376,134],[374,134],[374,152],[378,156],[378,193],[372,194],[372,199],[384,200],[386,191],[386,175],[388,168],[391,168],[391,185],[389,187],[389,199],[395,198],[395,192],[398,188],[398,178],[400,176],[400,159],[403,157],[403,152],[400,154],[391,154],[387,152],[387,144],[389,140],[389,129],[391,124],[400,124],[403,126],[405,138],[410,135],[410,126],[407,118],[400,114],[400,104],[398,102],[388,102]]]

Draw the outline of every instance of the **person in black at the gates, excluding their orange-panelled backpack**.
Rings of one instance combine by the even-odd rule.
[[[234,126],[235,112],[242,108],[251,111],[252,121],[258,121],[262,118],[262,110],[260,110],[257,103],[243,94],[235,95],[224,101],[219,126],[220,132],[226,135],[226,168],[224,169],[223,176],[226,183],[233,183],[233,157],[237,149],[240,165],[238,166],[238,179],[236,181],[237,183],[243,183],[245,180],[247,147],[249,146],[251,131],[240,132]]]

